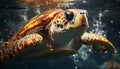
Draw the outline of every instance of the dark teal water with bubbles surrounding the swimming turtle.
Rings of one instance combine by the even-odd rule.
[[[120,69],[120,0],[0,0],[0,43],[8,41],[30,18],[52,8],[87,10],[87,31],[102,33],[115,45],[118,54],[90,53],[86,52],[89,48],[84,48],[80,57],[15,58],[1,64],[0,69]]]

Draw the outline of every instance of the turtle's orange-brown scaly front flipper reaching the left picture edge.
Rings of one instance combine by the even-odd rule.
[[[0,62],[5,62],[23,49],[31,47],[34,44],[41,44],[42,40],[43,37],[41,35],[34,33],[28,34],[19,40],[5,42],[0,47]]]

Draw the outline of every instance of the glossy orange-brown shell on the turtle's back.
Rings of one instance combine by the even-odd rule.
[[[11,39],[10,41],[15,41],[21,37],[23,37],[26,32],[29,30],[38,27],[38,26],[44,26],[46,24],[49,24],[49,22],[54,18],[55,15],[62,12],[61,9],[53,9],[48,10],[42,14],[38,14],[35,17],[33,17],[21,30],[19,30]]]

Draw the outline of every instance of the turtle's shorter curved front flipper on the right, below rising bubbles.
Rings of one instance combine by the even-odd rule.
[[[95,52],[117,53],[115,46],[99,34],[84,33],[80,37],[80,42],[86,45],[91,45]]]

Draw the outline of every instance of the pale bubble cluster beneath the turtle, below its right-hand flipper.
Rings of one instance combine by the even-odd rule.
[[[76,65],[75,69],[78,69],[78,67],[82,67],[83,62],[89,58],[91,53],[92,53],[92,47],[83,44],[81,48],[78,50],[78,53],[72,55],[73,57],[72,59]]]

